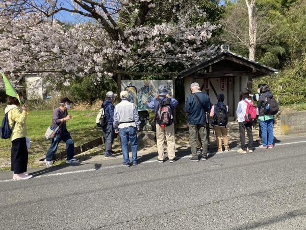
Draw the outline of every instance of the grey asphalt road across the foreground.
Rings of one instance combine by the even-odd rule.
[[[306,229],[305,145],[40,168],[26,181],[0,172],[0,229]]]

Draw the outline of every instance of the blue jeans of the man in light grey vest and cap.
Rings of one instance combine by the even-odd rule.
[[[134,126],[129,126],[126,128],[119,129],[120,139],[121,139],[121,147],[122,147],[122,155],[123,155],[123,163],[130,164],[129,157],[129,140],[131,142],[132,149],[132,162],[137,163],[137,128]]]

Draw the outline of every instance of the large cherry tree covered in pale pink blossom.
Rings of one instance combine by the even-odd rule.
[[[38,73],[69,85],[95,74],[98,82],[135,65],[190,66],[216,51],[207,40],[218,26],[190,23],[206,15],[194,0],[1,0],[0,9],[0,68],[11,79]],[[86,20],[65,25],[61,11]]]

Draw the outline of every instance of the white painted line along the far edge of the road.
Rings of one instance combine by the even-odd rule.
[[[282,146],[282,145],[292,145],[292,144],[299,144],[299,143],[305,143],[306,141],[300,141],[300,142],[290,142],[290,143],[279,143],[276,145],[277,146]],[[228,152],[236,152],[237,150],[230,150]],[[214,153],[214,152],[213,152]],[[219,154],[219,153],[216,153],[216,154]],[[181,157],[182,158],[188,158],[190,157],[190,155],[187,155],[187,156],[183,156]],[[145,162],[141,162],[141,164],[149,164],[149,163],[153,163],[153,162],[156,162],[156,160],[147,160]],[[40,175],[40,176],[34,176],[32,179],[35,179],[35,178],[41,178],[41,177],[49,177],[49,176],[61,176],[61,175],[66,175],[66,174],[73,174],[73,173],[83,173],[83,172],[92,172],[92,171],[97,171],[97,170],[102,170],[102,169],[113,169],[113,168],[118,168],[118,167],[122,167],[122,165],[114,165],[114,166],[107,166],[107,167],[104,167],[104,168],[99,168],[99,169],[84,169],[84,170],[77,170],[77,171],[70,171],[70,172],[63,172],[63,173],[50,173],[50,174],[46,174],[46,175]],[[34,173],[35,175],[35,173]],[[11,181],[14,181],[13,179],[9,179],[9,180],[0,180],[0,183],[1,182],[11,182]]]

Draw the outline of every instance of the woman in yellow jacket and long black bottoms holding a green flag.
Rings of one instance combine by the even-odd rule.
[[[18,95],[22,101],[21,93],[18,92]],[[5,113],[8,113],[10,128],[16,122],[9,139],[12,142],[11,171],[14,172],[13,179],[25,180],[32,178],[32,175],[24,174],[24,172],[27,172],[28,166],[28,148],[25,142],[25,136],[27,135],[25,120],[27,120],[28,109],[26,105],[22,105],[21,111],[18,105],[20,105],[18,99],[9,96]]]

